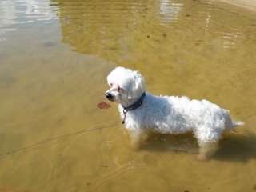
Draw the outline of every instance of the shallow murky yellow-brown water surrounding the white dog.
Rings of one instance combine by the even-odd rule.
[[[256,191],[256,13],[210,1],[0,1],[0,191]],[[209,162],[191,135],[134,151],[104,100],[115,66],[246,126]]]

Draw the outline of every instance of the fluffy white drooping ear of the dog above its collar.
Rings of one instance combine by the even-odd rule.
[[[130,89],[128,99],[138,98],[145,91],[144,78],[138,71],[134,71],[130,77]]]

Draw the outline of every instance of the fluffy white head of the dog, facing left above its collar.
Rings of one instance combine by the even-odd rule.
[[[123,106],[130,106],[145,92],[144,78],[138,71],[117,67],[107,76],[110,89],[106,91],[106,98],[118,102]]]

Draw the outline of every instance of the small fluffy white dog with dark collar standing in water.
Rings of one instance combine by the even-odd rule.
[[[205,159],[217,149],[224,130],[242,126],[234,122],[228,110],[206,100],[186,97],[155,96],[145,91],[138,71],[115,68],[108,76],[110,90],[106,98],[118,102],[122,123],[137,145],[149,132],[183,134],[192,132],[198,140],[198,158]]]

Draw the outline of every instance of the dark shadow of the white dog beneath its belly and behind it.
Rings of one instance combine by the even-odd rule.
[[[180,152],[198,154],[198,143],[192,134],[152,135],[140,150],[156,152]],[[256,135],[226,133],[212,159],[230,162],[246,162],[256,158]]]

